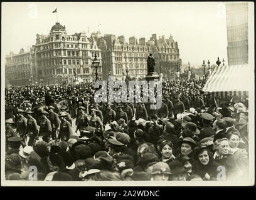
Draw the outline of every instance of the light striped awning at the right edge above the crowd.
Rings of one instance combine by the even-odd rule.
[[[203,91],[213,96],[248,96],[252,71],[248,64],[218,66],[206,82]]]

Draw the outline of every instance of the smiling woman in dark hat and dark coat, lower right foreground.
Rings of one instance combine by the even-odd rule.
[[[218,174],[217,168],[220,164],[213,160],[213,154],[207,147],[198,149],[195,152],[193,173],[198,174],[205,181],[215,181]]]

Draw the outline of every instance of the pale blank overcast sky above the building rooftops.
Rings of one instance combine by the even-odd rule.
[[[227,61],[227,27],[223,2],[3,2],[2,56],[25,51],[36,34],[49,34],[58,21],[67,34],[99,31],[129,37],[157,38],[172,34],[183,64],[205,59]],[[101,24],[100,26],[98,26]]]

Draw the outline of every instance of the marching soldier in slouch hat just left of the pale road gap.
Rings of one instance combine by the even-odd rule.
[[[72,126],[69,121],[67,121],[67,113],[60,113],[60,133],[58,134],[58,139],[63,141],[68,141],[70,136],[72,136]]]

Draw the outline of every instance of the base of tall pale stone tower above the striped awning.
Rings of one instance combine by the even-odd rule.
[[[228,65],[248,64],[248,3],[226,3]]]

